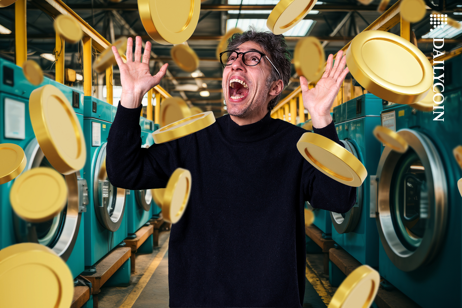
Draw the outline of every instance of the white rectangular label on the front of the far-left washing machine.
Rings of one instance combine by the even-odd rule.
[[[25,139],[25,103],[5,98],[5,138]]]

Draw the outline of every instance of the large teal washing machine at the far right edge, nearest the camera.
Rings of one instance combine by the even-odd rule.
[[[444,72],[444,121],[412,105],[384,106],[382,125],[409,148],[383,148],[371,179],[380,275],[423,308],[462,306],[462,171],[452,153],[462,145],[462,56],[447,60]]]

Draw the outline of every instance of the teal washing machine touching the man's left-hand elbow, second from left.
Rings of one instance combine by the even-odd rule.
[[[128,234],[126,190],[112,186],[106,174],[106,145],[116,107],[95,97],[84,97],[87,160],[83,177],[88,183],[85,212],[85,266],[93,266]],[[91,274],[90,272],[87,274]]]

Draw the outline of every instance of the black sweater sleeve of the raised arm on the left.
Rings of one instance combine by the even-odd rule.
[[[106,147],[109,181],[116,187],[132,190],[163,188],[173,171],[181,167],[189,138],[141,148],[140,111],[141,106],[117,107]]]

